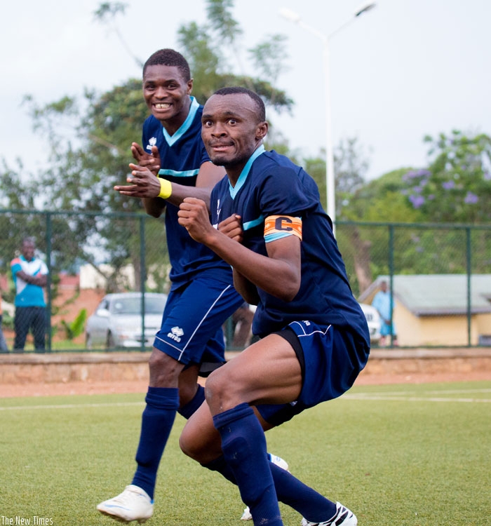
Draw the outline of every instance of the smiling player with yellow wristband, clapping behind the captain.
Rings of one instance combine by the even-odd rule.
[[[189,418],[203,403],[198,377],[225,362],[222,324],[243,303],[230,265],[178,222],[183,199],[209,203],[211,189],[225,175],[210,162],[201,140],[203,106],[191,96],[192,86],[187,60],[177,51],[156,51],[145,62],[143,96],[151,115],[143,124],[142,145],[131,147],[136,164],[130,164],[129,184],[114,187],[141,198],[149,215],[165,216],[171,264],[170,292],[149,358],[137,468],[121,494],[97,505],[123,522],[152,516],[157,471],[175,414]]]

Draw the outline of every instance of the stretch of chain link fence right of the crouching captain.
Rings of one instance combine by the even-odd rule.
[[[386,283],[384,344],[491,344],[491,226],[338,222],[337,240],[359,302]]]

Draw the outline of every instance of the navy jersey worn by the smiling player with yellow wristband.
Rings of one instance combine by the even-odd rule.
[[[143,124],[142,144],[147,153],[152,146],[159,148],[161,169],[159,177],[185,186],[196,186],[196,177],[203,163],[210,162],[201,140],[201,114],[203,106],[191,97],[186,121],[170,136],[153,115]],[[197,272],[231,283],[231,269],[215,252],[196,243],[184,227],[177,222],[179,207],[166,203],[166,234],[169,251],[170,281],[172,288],[189,283]]]

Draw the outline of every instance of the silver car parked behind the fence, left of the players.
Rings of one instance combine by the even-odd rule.
[[[146,292],[144,309],[144,346],[151,347],[161,327],[167,295]],[[86,346],[135,348],[142,346],[142,294],[121,292],[102,298],[86,324]]]

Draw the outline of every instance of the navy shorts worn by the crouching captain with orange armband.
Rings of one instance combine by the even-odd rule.
[[[308,407],[341,396],[365,367],[370,348],[354,335],[332,325],[321,328],[311,321],[295,321],[276,334],[292,344],[302,365],[302,391],[295,402],[257,405],[261,416],[278,426]],[[296,335],[292,335],[292,332]],[[303,362],[303,363],[302,363]]]

